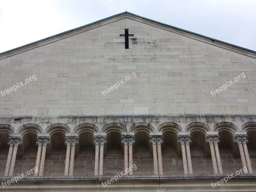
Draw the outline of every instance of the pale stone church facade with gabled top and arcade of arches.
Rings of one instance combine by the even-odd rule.
[[[0,54],[0,191],[255,191],[256,52],[123,12]]]

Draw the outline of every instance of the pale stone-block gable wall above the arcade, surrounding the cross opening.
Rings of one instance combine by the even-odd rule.
[[[0,90],[36,76],[0,95],[0,115],[255,114],[255,58],[129,17],[0,57]],[[129,49],[120,37],[124,28],[134,34]],[[102,94],[133,72],[136,78]],[[212,96],[241,73],[246,77]]]

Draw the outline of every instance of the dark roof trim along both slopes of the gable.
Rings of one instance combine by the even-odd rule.
[[[81,28],[84,28],[84,27],[88,27],[88,26],[90,26],[90,25],[93,25],[93,24],[96,24],[96,23],[100,23],[100,22],[102,22],[102,21],[105,21],[105,20],[108,20],[108,19],[112,19],[112,18],[114,18],[114,17],[120,16],[120,15],[123,15],[123,14],[129,14],[129,15],[132,15],[132,16],[135,16],[135,17],[139,17],[139,18],[144,19],[144,20],[148,20],[148,21],[151,21],[151,22],[154,22],[154,23],[158,23],[158,24],[161,24],[161,25],[164,25],[164,26],[167,26],[167,27],[171,27],[171,28],[174,28],[174,29],[178,29],[178,30],[180,30],[180,31],[184,31],[184,32],[187,32],[187,33],[196,35],[196,36],[200,36],[200,37],[203,37],[203,38],[206,38],[206,39],[210,39],[210,40],[212,40],[213,42],[216,41],[216,42],[219,42],[219,43],[222,43],[222,44],[229,45],[229,46],[231,46],[231,47],[235,47],[235,48],[238,48],[238,49],[241,49],[241,50],[244,50],[244,51],[247,51],[247,52],[251,52],[251,53],[256,54],[256,51],[252,51],[252,50],[246,49],[246,48],[244,48],[244,47],[240,47],[240,46],[237,46],[237,45],[234,45],[234,44],[229,44],[229,43],[226,43],[226,42],[224,42],[224,41],[220,41],[220,40],[217,40],[217,39],[213,39],[213,38],[211,38],[211,37],[203,36],[203,35],[200,35],[200,34],[191,32],[191,31],[187,31],[187,30],[185,30],[185,29],[181,29],[181,28],[177,28],[177,27],[174,27],[174,26],[171,26],[171,25],[167,25],[167,24],[164,24],[164,23],[155,21],[155,20],[151,20],[151,19],[148,19],[148,18],[145,18],[145,17],[141,17],[141,16],[139,16],[139,15],[135,15],[135,14],[130,13],[130,12],[122,12],[122,13],[119,13],[119,14],[116,14],[116,15],[113,15],[113,16],[110,16],[110,17],[107,17],[107,18],[105,18],[105,19],[101,19],[101,20],[98,20],[98,21],[89,23],[89,24],[87,24],[87,25],[84,25],[84,26],[81,26],[81,27],[78,27],[78,28],[74,28],[74,29],[70,29],[70,30],[68,30],[68,31],[59,33],[59,34],[57,34],[57,35],[53,35],[53,36],[50,36],[50,37],[47,37],[47,38],[44,38],[44,39],[35,41],[35,42],[33,42],[33,43],[29,43],[29,44],[26,44],[26,45],[23,45],[23,46],[20,46],[20,47],[11,49],[11,50],[6,51],[6,52],[2,52],[2,53],[0,53],[0,55],[3,55],[3,54],[5,54],[5,53],[9,53],[9,52],[12,52],[12,51],[21,49],[21,48],[23,48],[23,47],[27,47],[27,46],[29,46],[29,45],[36,44],[36,43],[39,43],[39,42],[42,42],[42,41],[45,41],[45,40],[48,40],[48,39],[51,39],[51,38],[60,36],[60,35],[64,35],[64,34],[66,34],[66,33],[75,31],[75,30],[77,30],[77,29],[81,29]]]

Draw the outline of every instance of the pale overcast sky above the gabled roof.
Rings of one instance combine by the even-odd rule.
[[[0,0],[0,52],[126,7],[142,17],[256,51],[256,0]]]

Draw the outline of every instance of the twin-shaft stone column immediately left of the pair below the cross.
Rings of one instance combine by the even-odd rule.
[[[95,171],[94,175],[96,176],[98,174],[98,163],[96,162],[96,157],[98,156],[97,153],[99,154],[99,149],[97,149],[97,145],[100,146],[100,165],[99,165],[99,176],[103,175],[103,150],[104,150],[104,144],[107,143],[107,138],[106,136],[94,136],[93,137],[93,143],[96,145],[95,149]],[[96,165],[97,163],[97,165]],[[97,170],[97,172],[96,172]]]

